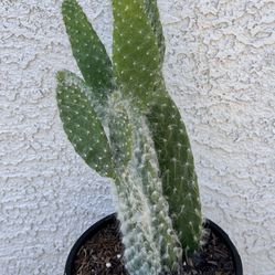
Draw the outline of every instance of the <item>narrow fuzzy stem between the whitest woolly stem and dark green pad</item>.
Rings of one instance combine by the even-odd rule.
[[[162,193],[162,182],[155,145],[146,118],[134,116],[134,162],[142,179],[142,190],[150,205],[155,242],[158,244],[161,263],[166,271],[177,271],[182,250],[169,216],[169,205]]]

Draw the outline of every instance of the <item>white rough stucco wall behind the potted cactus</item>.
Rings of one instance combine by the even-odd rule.
[[[110,52],[110,0],[82,0]],[[61,128],[57,70],[77,72],[60,0],[0,3],[0,275],[62,275],[113,211]],[[204,214],[245,275],[275,274],[275,1],[159,0],[167,85],[192,141]]]

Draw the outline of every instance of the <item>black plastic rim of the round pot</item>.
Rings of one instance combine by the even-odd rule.
[[[110,214],[105,216],[104,219],[99,220],[95,224],[93,224],[88,230],[86,230],[83,235],[76,241],[74,244],[72,251],[68,254],[67,261],[66,261],[66,266],[65,266],[65,274],[64,275],[73,275],[73,266],[74,266],[74,261],[76,258],[77,252],[82,247],[82,245],[94,234],[96,234],[98,231],[104,229],[108,223],[114,223],[116,221],[116,214]],[[234,268],[235,268],[235,275],[243,275],[243,266],[242,266],[242,261],[241,257],[236,251],[236,247],[234,244],[231,242],[229,235],[215,223],[213,223],[210,220],[205,221],[204,224],[205,228],[211,229],[211,231],[219,236],[220,239],[223,240],[223,242],[226,244],[228,248],[231,252],[233,263],[234,263]]]

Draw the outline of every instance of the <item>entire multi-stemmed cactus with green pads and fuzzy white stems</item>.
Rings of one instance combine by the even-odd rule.
[[[113,59],[76,0],[62,14],[83,78],[57,73],[57,105],[76,152],[112,180],[130,275],[178,273],[202,219],[184,124],[163,76],[156,0],[113,0]]]

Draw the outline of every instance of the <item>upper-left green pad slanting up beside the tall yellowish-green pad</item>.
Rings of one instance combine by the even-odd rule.
[[[95,89],[98,101],[105,103],[114,89],[112,62],[105,46],[76,0],[64,0],[62,14],[83,77]]]

